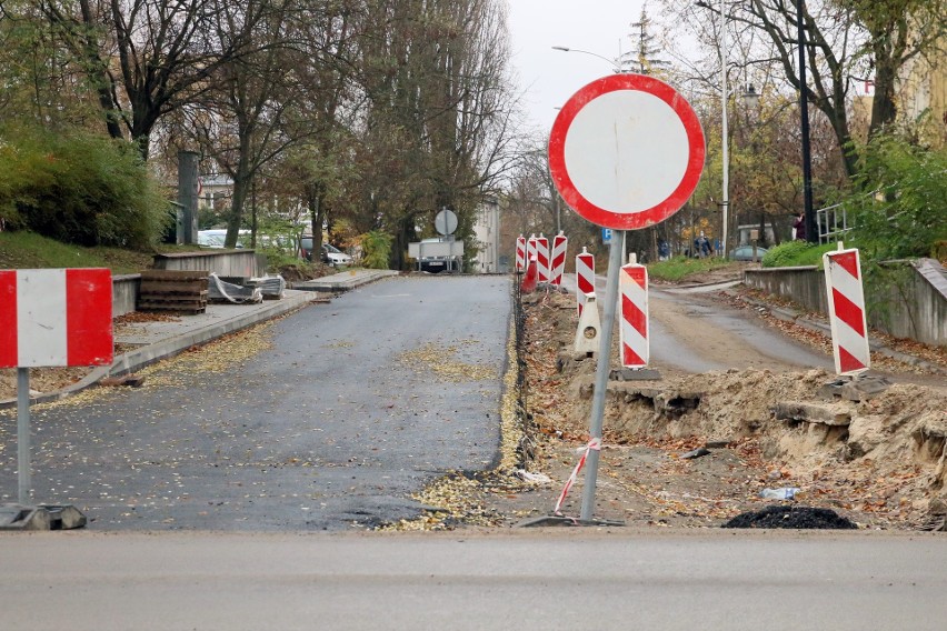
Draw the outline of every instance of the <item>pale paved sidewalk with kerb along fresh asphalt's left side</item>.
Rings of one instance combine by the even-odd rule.
[[[131,322],[114,337],[116,344],[134,345],[116,355],[111,365],[98,367],[82,380],[56,392],[43,392],[30,398],[31,403],[54,401],[94,385],[107,377],[121,377],[136,372],[156,361],[180,351],[212,341],[217,338],[270,320],[283,313],[307,307],[317,300],[330,298],[382,278],[397,276],[391,270],[350,270],[312,281],[296,283],[287,289],[280,300],[265,300],[256,304],[209,303],[203,313],[178,316],[170,321]],[[0,409],[16,407],[17,399],[0,401]]]

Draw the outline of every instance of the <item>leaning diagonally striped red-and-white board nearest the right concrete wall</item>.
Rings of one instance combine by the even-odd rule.
[[[831,347],[836,373],[858,374],[871,365],[865,293],[861,288],[861,260],[858,250],[841,248],[839,243],[837,252],[823,254]]]

